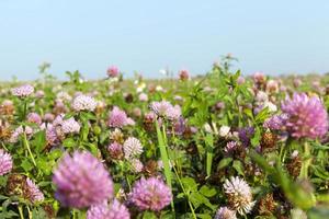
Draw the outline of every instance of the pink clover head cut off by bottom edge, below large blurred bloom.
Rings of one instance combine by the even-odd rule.
[[[87,211],[87,219],[129,219],[131,214],[126,206],[114,199],[109,206],[106,201],[91,206]]]

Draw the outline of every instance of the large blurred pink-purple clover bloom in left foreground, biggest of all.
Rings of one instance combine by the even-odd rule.
[[[55,197],[64,205],[84,208],[113,197],[113,183],[104,165],[90,152],[65,154],[54,171]]]

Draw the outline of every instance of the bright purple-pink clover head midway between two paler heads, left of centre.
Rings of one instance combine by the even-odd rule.
[[[126,112],[114,106],[110,114],[107,125],[113,128],[122,128],[127,125],[135,125],[135,122],[127,116]]]

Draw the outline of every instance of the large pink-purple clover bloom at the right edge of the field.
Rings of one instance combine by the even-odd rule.
[[[286,97],[281,110],[287,115],[286,129],[294,138],[320,138],[328,131],[328,114],[321,101],[295,93]]]

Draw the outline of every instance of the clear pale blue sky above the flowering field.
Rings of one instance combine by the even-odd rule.
[[[196,74],[227,53],[243,73],[326,72],[328,12],[328,0],[0,0],[0,80],[35,79],[43,61],[58,78]]]

